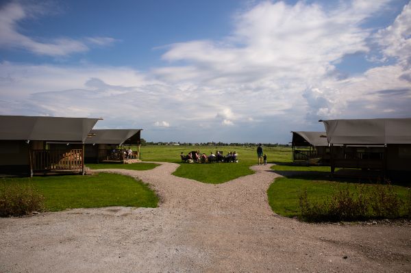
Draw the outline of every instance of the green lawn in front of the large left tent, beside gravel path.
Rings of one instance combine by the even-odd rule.
[[[1,184],[31,183],[45,196],[48,211],[91,207],[157,207],[158,197],[141,181],[120,174],[10,178]]]

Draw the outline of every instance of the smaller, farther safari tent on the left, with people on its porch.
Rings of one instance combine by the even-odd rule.
[[[125,161],[125,146],[140,147],[142,129],[93,129],[86,140],[86,163]],[[136,159],[140,151],[134,151]]]

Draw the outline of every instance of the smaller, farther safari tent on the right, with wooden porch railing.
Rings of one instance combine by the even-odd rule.
[[[325,132],[291,131],[292,160],[327,164],[329,147]]]

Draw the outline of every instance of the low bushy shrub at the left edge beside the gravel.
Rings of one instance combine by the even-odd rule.
[[[4,185],[0,190],[0,217],[23,216],[44,207],[45,198],[34,185]]]

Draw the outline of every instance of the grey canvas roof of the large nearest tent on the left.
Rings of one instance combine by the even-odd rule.
[[[0,116],[0,140],[81,142],[100,118]]]

